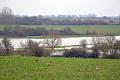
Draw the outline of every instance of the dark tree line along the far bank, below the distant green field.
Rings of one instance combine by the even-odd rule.
[[[45,36],[49,32],[55,31],[59,32],[60,35],[79,35],[78,33],[71,30],[70,27],[65,27],[63,30],[53,30],[46,29],[43,27],[40,28],[26,28],[24,26],[4,26],[3,30],[0,30],[0,36],[7,37],[27,37],[27,36]]]

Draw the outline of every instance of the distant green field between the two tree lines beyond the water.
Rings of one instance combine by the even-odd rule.
[[[44,27],[47,29],[63,30],[65,27],[70,27],[77,33],[86,33],[89,31],[96,31],[100,33],[114,33],[120,34],[120,25],[21,25],[26,28],[39,28]],[[0,25],[0,30],[3,29],[3,25]]]

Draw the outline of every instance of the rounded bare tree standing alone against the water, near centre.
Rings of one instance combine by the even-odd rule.
[[[51,30],[45,37],[44,43],[52,50],[61,44],[61,37],[59,32]]]

